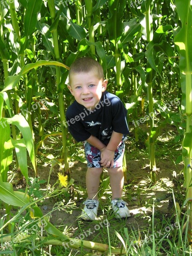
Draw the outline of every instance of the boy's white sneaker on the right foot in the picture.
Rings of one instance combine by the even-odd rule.
[[[121,198],[115,198],[111,201],[111,208],[115,213],[115,218],[126,218],[131,216],[127,205],[128,203]]]

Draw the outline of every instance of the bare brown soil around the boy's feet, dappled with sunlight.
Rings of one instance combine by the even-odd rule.
[[[164,133],[162,132],[161,143],[166,140],[166,136],[163,134]],[[61,138],[58,139],[61,140]],[[46,144],[50,146],[49,148],[54,151],[53,154],[55,155],[60,143],[56,142],[54,148],[51,147],[51,143],[52,142],[49,140],[46,142]],[[161,155],[156,157],[157,181],[156,183],[152,183],[147,151],[145,149],[143,150],[144,146],[140,144],[137,147],[136,152],[131,143],[132,142],[126,142],[127,183],[125,183],[123,190],[123,199],[128,202],[131,217],[122,221],[116,221],[114,218],[111,218],[111,213],[108,211],[111,197],[110,189],[106,189],[102,195],[98,212],[98,221],[103,221],[107,217],[111,227],[116,228],[117,230],[120,230],[122,227],[128,227],[129,229],[134,228],[137,230],[138,228],[142,229],[142,227],[148,227],[148,221],[152,217],[153,204],[156,222],[162,221],[163,218],[171,218],[171,216],[175,214],[172,191],[174,192],[176,201],[180,205],[184,200],[185,194],[185,192],[178,190],[178,188],[182,189],[183,184],[183,164],[176,165],[174,163],[179,154],[178,152],[177,155],[173,156],[174,153],[171,151],[169,152],[169,148],[167,148],[166,152],[161,152]],[[141,147],[141,150],[139,147]],[[176,150],[180,151],[181,154],[181,148],[177,148]],[[42,158],[42,160],[43,159],[45,158]],[[40,180],[46,180],[47,182],[50,169],[50,162],[49,164],[46,162],[38,163],[38,175]],[[50,216],[50,222],[56,227],[59,226],[60,230],[63,229],[67,235],[72,237],[74,235],[76,236],[78,233],[80,227],[79,223],[84,230],[87,228],[87,223],[81,221],[79,218],[83,202],[86,199],[86,170],[86,163],[81,163],[79,161],[70,163],[70,178],[74,179],[74,183],[73,186],[71,186],[68,198],[65,198],[66,195],[58,198],[48,198],[39,204],[43,214]],[[58,180],[58,172],[62,171],[59,165],[55,165],[50,176],[50,186]],[[34,177],[34,172],[32,170],[29,170],[29,177]],[[103,178],[105,179],[106,177],[108,177],[108,173],[105,170]],[[22,188],[22,186],[24,188],[26,184],[22,184],[22,182],[17,183],[15,184],[15,189]],[[41,185],[41,189],[46,189],[46,186],[46,183]],[[58,207],[58,201],[61,201],[64,205]],[[68,204],[73,205],[73,207],[70,207],[71,209],[66,207],[68,201],[70,201]],[[95,222],[93,222],[93,224],[89,223],[88,225],[90,227],[90,225],[94,224]],[[116,227],[117,224],[119,226]],[[68,234],[67,232],[70,233]],[[81,234],[82,230],[79,230],[79,233]],[[91,241],[90,239],[91,236],[86,238],[86,240]]]

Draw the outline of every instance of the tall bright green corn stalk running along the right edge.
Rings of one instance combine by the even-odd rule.
[[[189,209],[189,233],[192,228],[192,8],[190,1],[186,1],[184,8],[181,0],[175,0],[177,13],[182,27],[175,30],[175,44],[180,55],[179,68],[182,88],[182,111],[186,115],[186,131],[182,143],[182,157],[184,163],[184,177],[186,199]],[[191,239],[189,237],[189,239]]]

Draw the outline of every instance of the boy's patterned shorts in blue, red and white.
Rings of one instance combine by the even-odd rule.
[[[113,168],[122,166],[124,151],[125,151],[125,143],[121,141],[115,151]],[[101,151],[99,149],[97,149],[96,147],[93,147],[90,143],[85,141],[84,152],[85,152],[85,157],[87,159],[87,167],[92,167],[92,168],[103,167],[101,166],[101,163],[100,163]]]

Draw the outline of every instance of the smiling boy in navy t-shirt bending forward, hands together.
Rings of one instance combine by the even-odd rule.
[[[98,190],[103,167],[108,168],[112,191],[111,208],[116,218],[130,216],[122,197],[124,175],[123,139],[128,134],[127,110],[120,99],[106,91],[102,66],[89,57],[77,59],[70,67],[67,86],[75,101],[67,109],[67,125],[76,141],[84,141],[87,159],[87,200],[82,219],[94,220],[99,207]]]

